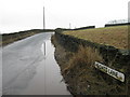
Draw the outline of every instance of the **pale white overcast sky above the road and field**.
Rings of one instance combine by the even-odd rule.
[[[0,31],[46,28],[103,27],[113,19],[128,18],[130,0],[0,0]]]

